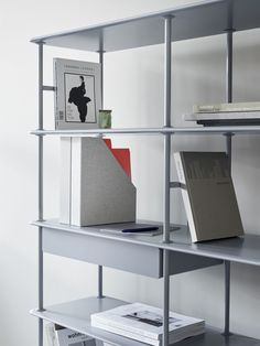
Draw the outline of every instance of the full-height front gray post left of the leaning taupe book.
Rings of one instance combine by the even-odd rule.
[[[171,127],[172,15],[164,17],[164,127]],[[163,242],[170,242],[171,134],[164,134]],[[163,346],[169,345],[169,250],[163,250]]]

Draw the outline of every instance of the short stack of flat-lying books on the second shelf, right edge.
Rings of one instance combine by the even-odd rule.
[[[260,125],[260,102],[198,105],[184,120],[203,126]]]

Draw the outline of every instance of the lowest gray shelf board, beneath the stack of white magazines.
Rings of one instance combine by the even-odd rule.
[[[94,328],[90,325],[90,315],[96,312],[101,312],[119,305],[127,304],[123,301],[111,298],[87,298],[68,303],[57,304],[47,307],[45,311],[39,312],[32,310],[31,314],[59,324],[64,327],[87,334],[97,339],[115,346],[144,346],[148,344],[132,340],[117,334],[108,333],[99,328]],[[175,346],[260,346],[260,340],[231,335],[225,337],[218,329],[207,327],[204,335],[195,336],[182,340]]]

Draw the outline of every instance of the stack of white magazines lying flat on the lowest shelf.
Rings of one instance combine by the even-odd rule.
[[[205,322],[170,312],[170,344],[203,334]],[[162,345],[163,312],[142,303],[122,305],[91,315],[91,325],[150,345]]]

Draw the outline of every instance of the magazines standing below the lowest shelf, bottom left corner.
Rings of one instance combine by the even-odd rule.
[[[101,346],[102,343],[85,334],[62,327],[54,323],[45,326],[48,346]]]

